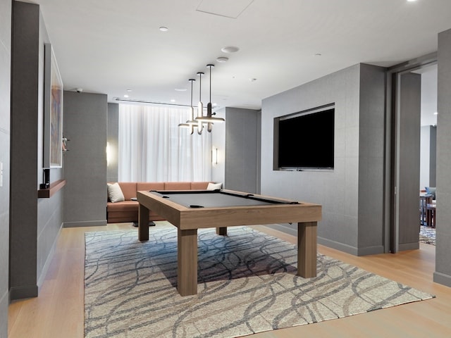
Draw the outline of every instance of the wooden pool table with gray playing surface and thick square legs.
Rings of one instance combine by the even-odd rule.
[[[197,294],[197,229],[273,223],[297,223],[297,275],[316,277],[316,227],[321,205],[230,190],[137,192],[138,236],[149,240],[149,210],[178,228],[180,295]]]

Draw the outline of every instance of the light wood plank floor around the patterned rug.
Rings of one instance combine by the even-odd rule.
[[[130,229],[130,223],[61,230],[56,253],[39,296],[9,306],[9,338],[82,338],[85,232]],[[266,227],[295,243],[295,237]],[[435,246],[397,254],[356,257],[319,246],[319,252],[378,275],[435,294],[436,298],[338,320],[254,334],[252,338],[451,337],[451,288],[432,281]],[[219,320],[219,318],[218,318]],[[149,337],[152,333],[149,332]]]

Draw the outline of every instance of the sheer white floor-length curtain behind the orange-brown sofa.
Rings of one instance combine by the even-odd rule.
[[[178,127],[187,108],[119,105],[118,180],[211,180],[211,134]]]

